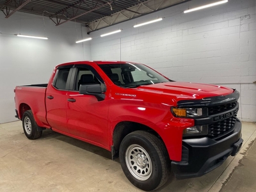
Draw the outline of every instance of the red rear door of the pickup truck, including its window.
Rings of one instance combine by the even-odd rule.
[[[58,132],[69,132],[67,128],[67,92],[72,75],[72,66],[60,67],[52,84],[46,90],[45,105],[47,122]]]

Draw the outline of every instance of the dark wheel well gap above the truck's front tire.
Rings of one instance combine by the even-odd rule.
[[[159,134],[157,134],[156,131],[154,131],[153,129],[146,125],[139,124],[136,122],[120,122],[116,125],[115,130],[113,132],[112,159],[118,157],[120,144],[122,140],[125,138],[125,136],[127,136],[127,134],[131,132],[138,130],[145,130],[161,139],[161,137],[159,136]]]

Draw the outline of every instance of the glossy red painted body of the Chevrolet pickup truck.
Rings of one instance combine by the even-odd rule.
[[[56,68],[47,88],[17,86],[15,104],[22,118],[20,106],[26,104],[33,111],[36,123],[62,134],[92,143],[111,151],[113,131],[123,121],[138,122],[154,129],[164,141],[170,159],[181,160],[182,131],[194,125],[193,119],[176,118],[170,112],[179,100],[202,99],[228,95],[230,88],[210,84],[168,82],[121,88],[112,83],[98,65],[126,63],[120,61],[79,61],[58,65],[90,65],[106,84],[106,98],[98,101],[93,95],[56,90],[52,86]],[[118,94],[116,94],[118,93]],[[51,95],[54,99],[47,99]],[[76,99],[68,102],[67,99]]]

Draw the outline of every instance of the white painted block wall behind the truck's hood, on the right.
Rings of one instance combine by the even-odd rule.
[[[183,13],[202,4],[205,1],[189,1],[91,33],[92,60],[138,61],[176,81],[236,88],[241,93],[239,118],[255,122],[255,0],[230,0],[220,6]],[[157,17],[164,19],[132,27]],[[99,37],[116,29],[123,30]]]

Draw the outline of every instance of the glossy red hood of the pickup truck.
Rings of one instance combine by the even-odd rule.
[[[214,84],[187,83],[187,82],[167,82],[149,84],[138,87],[142,92],[155,92],[165,95],[172,95],[179,99],[203,99],[205,97],[214,97],[228,95],[233,93],[232,88],[226,88]]]

